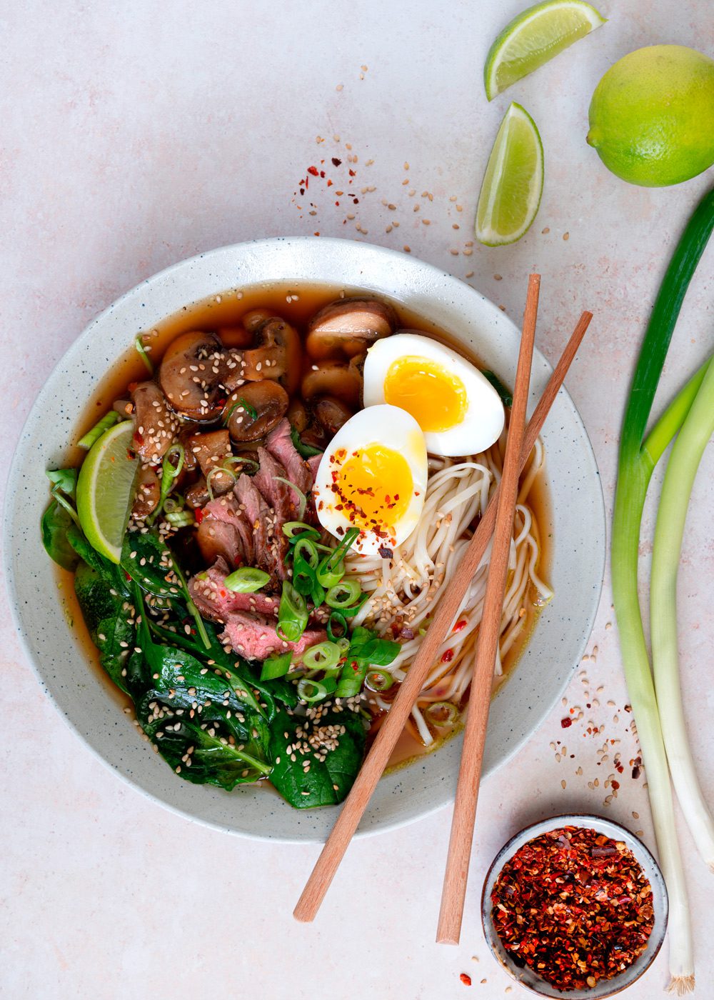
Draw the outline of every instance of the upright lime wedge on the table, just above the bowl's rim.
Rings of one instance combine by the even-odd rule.
[[[476,209],[476,239],[488,247],[515,243],[535,219],[543,192],[543,146],[520,104],[503,116]]]

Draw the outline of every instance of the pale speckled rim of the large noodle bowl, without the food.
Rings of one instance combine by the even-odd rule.
[[[406,254],[348,240],[285,238],[223,247],[167,268],[95,319],[48,378],[27,419],[8,482],[6,571],[17,627],[40,682],[97,756],[135,788],[193,820],[278,841],[322,841],[337,807],[300,811],[263,788],[227,793],[181,781],[143,742],[131,719],[87,666],[68,627],[40,539],[48,500],[44,470],[57,467],[98,381],[150,329],[184,305],[263,282],[314,282],[388,295],[472,349],[507,383],[515,378],[519,330],[468,285]],[[525,288],[525,282],[524,282]],[[577,317],[573,315],[573,322]],[[551,367],[536,350],[531,408]],[[582,421],[561,389],[543,430],[551,489],[555,598],[491,706],[484,777],[538,728],[568,683],[597,611],[605,563],[605,511]],[[359,833],[391,829],[453,799],[461,740],[383,778]]]

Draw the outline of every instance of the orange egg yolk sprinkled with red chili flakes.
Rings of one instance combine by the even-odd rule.
[[[414,480],[403,455],[382,444],[351,452],[333,473],[348,519],[361,531],[389,533],[406,513]]]

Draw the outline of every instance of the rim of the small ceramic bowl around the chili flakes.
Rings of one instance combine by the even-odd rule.
[[[512,954],[507,952],[503,947],[503,943],[496,933],[491,919],[491,891],[506,862],[524,844],[527,844],[529,840],[533,840],[534,837],[539,837],[543,833],[548,833],[549,830],[557,830],[563,826],[579,826],[590,830],[597,830],[598,833],[604,833],[605,836],[611,837],[613,840],[624,841],[652,886],[652,907],[654,910],[654,927],[647,942],[647,948],[632,965],[628,966],[619,976],[614,976],[612,979],[599,980],[592,989],[568,990],[567,993],[555,989],[555,987],[536,975],[532,969],[516,965]],[[592,816],[587,813],[553,816],[550,819],[541,820],[539,823],[533,823],[524,830],[520,830],[514,837],[511,837],[491,863],[491,867],[486,873],[483,894],[481,896],[483,932],[496,960],[500,962],[504,969],[521,986],[525,986],[531,993],[535,993],[541,997],[559,997],[560,1000],[563,997],[568,997],[568,1000],[602,1000],[603,997],[614,996],[621,990],[631,986],[649,968],[655,960],[657,952],[662,947],[664,935],[667,930],[668,912],[669,904],[664,877],[659,865],[642,841],[630,833],[624,826],[620,826],[619,823],[614,823],[611,820],[603,819],[601,816]]]

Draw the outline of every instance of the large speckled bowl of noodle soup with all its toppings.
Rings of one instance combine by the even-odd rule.
[[[346,240],[258,240],[128,292],[72,345],[13,461],[7,577],[39,679],[184,816],[329,832],[501,475],[519,332],[469,286]],[[536,351],[531,407],[550,375]],[[561,390],[514,520],[484,776],[590,635],[604,507]],[[448,803],[488,554],[359,833]]]

